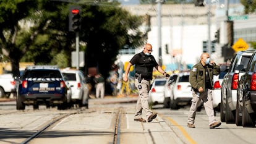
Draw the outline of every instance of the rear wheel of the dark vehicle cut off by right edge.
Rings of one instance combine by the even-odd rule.
[[[242,126],[243,127],[255,127],[255,120],[252,120],[252,117],[245,108],[245,100],[242,102]]]

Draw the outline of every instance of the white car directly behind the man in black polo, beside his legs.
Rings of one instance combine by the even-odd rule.
[[[149,103],[163,104],[164,101],[164,84],[166,83],[166,78],[155,78],[152,83],[152,87],[148,93]]]

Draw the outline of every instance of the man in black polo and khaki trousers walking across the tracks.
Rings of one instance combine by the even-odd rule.
[[[139,98],[137,100],[134,121],[147,122],[142,118],[142,109],[146,112],[148,122],[151,122],[157,116],[148,106],[148,92],[150,90],[153,68],[155,67],[164,77],[169,77],[169,74],[164,72],[161,66],[156,62],[155,57],[151,55],[152,51],[151,44],[145,44],[143,51],[135,54],[130,60],[123,78],[124,82],[128,82],[130,67],[135,65],[135,86],[139,90]]]

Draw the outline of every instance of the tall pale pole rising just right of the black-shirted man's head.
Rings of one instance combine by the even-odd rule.
[[[156,0],[157,4],[158,4],[158,59],[159,59],[159,65],[162,66],[162,33],[161,33],[161,2],[163,2],[163,0]]]

